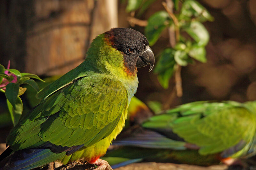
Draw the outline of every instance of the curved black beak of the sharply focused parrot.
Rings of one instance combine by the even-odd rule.
[[[151,48],[148,46],[146,50],[138,57],[136,62],[136,67],[145,67],[149,64],[149,71],[150,72],[155,64],[155,56]]]

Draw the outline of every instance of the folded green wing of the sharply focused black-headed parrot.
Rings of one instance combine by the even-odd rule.
[[[7,144],[13,150],[36,147],[46,141],[68,147],[90,146],[107,137],[127,107],[127,91],[118,81],[102,75],[95,77],[98,78],[82,77],[55,92],[40,95],[47,98],[12,129]]]

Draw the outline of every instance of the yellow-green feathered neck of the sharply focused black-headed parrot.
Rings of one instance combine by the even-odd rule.
[[[127,70],[123,54],[111,47],[104,34],[93,40],[84,63],[100,74],[122,82],[127,89],[130,102],[138,87],[137,69],[132,73]]]

